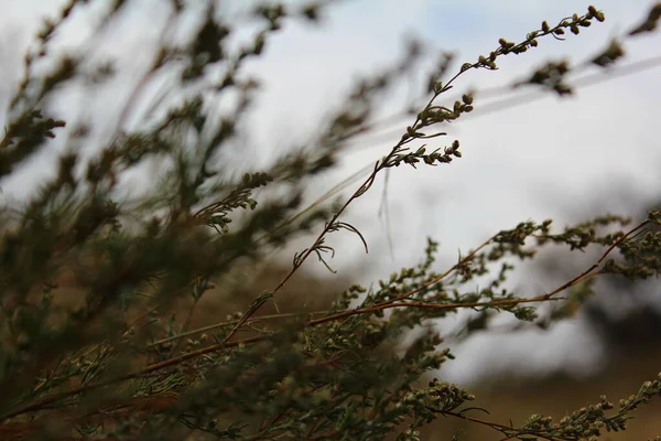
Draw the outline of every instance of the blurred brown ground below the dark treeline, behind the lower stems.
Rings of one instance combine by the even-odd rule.
[[[469,388],[477,396],[474,405],[488,409],[491,415],[474,411],[470,416],[501,424],[508,424],[511,419],[514,426],[522,424],[533,413],[559,420],[583,406],[597,404],[602,395],[606,395],[617,407],[620,399],[636,392],[643,381],[655,379],[660,370],[661,351],[657,347],[627,355],[614,354],[614,358],[599,375],[588,378],[576,379],[559,375],[544,380],[492,379],[488,385]],[[460,440],[489,441],[505,438],[490,428],[444,418],[424,430],[422,439],[449,440],[458,429],[464,430]],[[661,435],[661,397],[642,406],[635,413],[635,419],[629,421],[625,432],[606,432],[600,439],[643,441],[657,435]]]

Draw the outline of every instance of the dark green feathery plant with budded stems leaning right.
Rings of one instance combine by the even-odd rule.
[[[73,0],[61,18],[46,21],[36,46],[25,56],[19,85],[0,141],[0,178],[48,148],[65,122],[48,116],[47,103],[61,86],[112,75],[112,63],[83,63],[65,55],[51,72],[33,73],[71,12],[87,8]],[[131,2],[117,1],[101,21],[108,25]],[[187,11],[171,1],[170,24]],[[457,262],[437,272],[438,244],[430,239],[419,265],[380,280],[375,288],[355,284],[326,310],[267,314],[310,256],[329,269],[335,250],[326,237],[338,230],[360,232],[343,220],[376,178],[402,164],[449,164],[462,158],[459,142],[437,146],[441,127],[474,109],[464,94],[451,106],[444,94],[473,69],[496,69],[496,62],[537,47],[545,36],[578,34],[605,15],[590,7],[551,26],[543,22],[519,43],[503,39],[477,62],[463,64],[445,79],[451,58],[430,77],[430,98],[399,141],[370,169],[344,202],[303,205],[310,180],[335,166],[347,143],[369,130],[377,99],[397,85],[421,57],[411,44],[403,60],[359,80],[314,140],[316,148],[292,150],[269,170],[251,170],[237,179],[220,154],[240,137],[241,122],[258,89],[242,72],[251,58],[289,20],[316,22],[324,4],[299,9],[264,3],[232,20],[213,6],[187,43],[163,40],[151,68],[122,110],[112,137],[91,143],[83,123],[71,129],[57,172],[45,179],[24,206],[2,207],[0,238],[0,434],[2,439],[345,439],[375,440],[395,435],[420,439],[419,429],[440,416],[486,424],[503,439],[594,439],[625,429],[631,411],[661,392],[647,381],[619,408],[602,397],[554,422],[533,415],[521,426],[474,417],[475,397],[438,379],[426,385],[453,358],[431,323],[462,309],[475,311],[462,335],[489,330],[499,312],[548,327],[571,318],[589,297],[602,275],[631,280],[659,276],[661,225],[658,211],[624,230],[630,220],[606,215],[553,233],[552,222],[524,222],[500,230]],[[628,35],[652,31],[661,15],[652,8]],[[252,42],[232,47],[229,36],[241,20],[257,20]],[[625,35],[622,39],[627,37]],[[590,62],[605,67],[622,55],[614,41]],[[221,75],[209,72],[219,68]],[[514,86],[542,87],[559,95],[572,92],[566,74],[578,67],[549,62]],[[156,75],[176,73],[180,88],[161,94],[150,115],[127,129],[136,97]],[[102,74],[102,75],[100,75]],[[208,107],[234,94],[234,108],[212,118]],[[152,109],[153,110],[153,109]],[[80,121],[77,121],[80,122]],[[85,144],[85,143],[88,144]],[[420,144],[429,142],[432,146]],[[77,146],[96,147],[84,161]],[[121,196],[120,178],[153,159],[165,164],[153,191],[139,201]],[[269,252],[315,230],[311,245],[294,254],[290,271],[278,283],[210,326],[191,330],[194,312],[208,297],[223,304],[237,301],[227,292],[237,270],[257,268]],[[307,238],[307,236],[305,236]],[[602,249],[600,257],[570,281],[539,295],[505,288],[519,261],[533,259],[544,246],[568,251]],[[73,287],[61,287],[73,277]],[[251,270],[250,277],[256,277]],[[249,277],[249,278],[250,278]],[[248,279],[249,279],[248,278]],[[245,281],[246,283],[249,280]],[[479,282],[480,288],[475,288]],[[191,309],[181,314],[177,304]],[[552,302],[551,312],[540,304]],[[231,306],[234,308],[234,305]],[[183,316],[182,316],[183,315]],[[413,333],[411,333],[413,331]],[[402,346],[404,337],[414,336]],[[441,370],[442,373],[442,370]],[[189,438],[187,438],[189,437]],[[460,439],[460,433],[454,439]]]

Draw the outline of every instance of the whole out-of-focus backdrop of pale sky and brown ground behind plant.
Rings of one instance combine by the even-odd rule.
[[[107,2],[96,2],[99,8],[102,3]],[[166,22],[162,0],[132,3],[120,24],[108,30],[99,43],[99,51],[117,56],[119,74],[95,94],[84,87],[65,90],[52,104],[58,117],[98,117],[109,123],[122,117],[120,104],[149,65],[151,58],[145,54],[159,44]],[[239,0],[224,3],[228,13],[240,13],[254,4]],[[54,17],[62,4],[55,0],[0,0],[3,110],[21,79],[23,54],[41,21]],[[554,24],[574,12],[584,13],[588,4],[576,0],[335,2],[318,26],[288,22],[269,42],[264,56],[250,64],[263,88],[250,115],[251,143],[243,148],[249,149],[257,164],[267,164],[289,147],[304,143],[353,82],[401,56],[407,39],[423,42],[429,50],[423,64],[430,66],[438,62],[440,54],[454,53],[456,71],[462,63],[495,50],[499,37],[522,40],[543,20]],[[438,147],[458,139],[464,157],[448,166],[399,168],[387,180],[381,176],[346,217],[364,233],[370,252],[366,255],[360,241],[350,235],[333,235],[329,243],[338,252],[332,263],[338,276],[328,275],[322,265],[311,261],[305,278],[297,281],[300,288],[305,288],[301,292],[311,291],[315,283],[328,288],[328,280],[335,280],[334,289],[355,281],[375,283],[420,260],[426,237],[441,243],[437,265],[442,270],[456,261],[459,249],[474,248],[522,220],[553,218],[557,228],[606,213],[640,220],[648,209],[659,207],[661,32],[627,40],[621,68],[583,69],[574,78],[576,93],[570,97],[508,87],[548,60],[566,58],[572,64],[589,61],[611,39],[643,20],[652,4],[643,0],[602,0],[595,7],[605,12],[606,22],[584,29],[581,35],[568,35],[564,42],[540,41],[534,51],[502,58],[497,72],[462,76],[455,92],[460,95],[476,90],[476,110],[443,128],[448,137],[438,140]],[[91,39],[98,15],[95,7],[72,18],[57,35],[59,50],[77,47]],[[237,44],[242,33],[251,32],[250,24],[241,29]],[[342,166],[308,189],[310,201],[380,159],[399,140],[411,123],[402,109],[422,103],[420,84],[424,78],[413,74],[383,101],[378,130],[356,139]],[[452,106],[455,95],[445,98],[446,105]],[[4,111],[0,114],[0,123],[4,125],[6,117]],[[102,137],[104,128],[98,130]],[[1,196],[6,201],[26,197],[41,176],[52,172],[57,148],[55,142],[19,175],[2,182]],[[228,158],[231,160],[240,161]],[[131,179],[136,187],[148,180],[144,171]],[[358,184],[355,182],[348,191]],[[294,245],[299,248],[305,243]],[[289,265],[293,250],[275,256],[273,268],[260,283]],[[596,256],[551,250],[537,263],[517,270],[511,287],[521,295],[550,291],[581,272]],[[491,420],[531,413],[562,417],[567,410],[596,402],[602,394],[616,401],[625,398],[661,370],[655,351],[661,336],[659,282],[632,286],[604,279],[597,290],[598,295],[574,320],[545,331],[533,327],[516,333],[479,333],[466,341],[448,337],[446,343],[456,359],[444,365],[438,377],[470,387],[480,397],[477,406],[497,408],[501,413],[492,415]],[[465,318],[459,314],[457,320]],[[500,324],[507,325],[508,320],[503,318]],[[438,327],[442,334],[452,335],[458,322],[438,323]],[[610,439],[644,439],[661,433],[652,424],[660,409],[643,409],[626,438]],[[456,421],[452,424],[462,427]],[[431,430],[431,439],[433,431],[446,433]],[[473,426],[467,430],[468,439],[495,439],[489,432],[475,431]]]

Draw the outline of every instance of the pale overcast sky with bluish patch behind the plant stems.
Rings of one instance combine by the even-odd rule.
[[[134,17],[120,32],[121,39],[113,41],[109,51],[140,55],[141,51],[153,47],[164,20],[162,1],[138,1],[142,9],[136,9]],[[226,3],[245,4],[234,1]],[[23,50],[39,18],[52,14],[62,2],[2,0],[1,3],[0,75],[15,84]],[[542,20],[555,24],[574,12],[584,13],[588,4],[576,0],[342,2],[328,11],[321,28],[289,25],[270,42],[264,58],[253,66],[264,85],[253,114],[254,138],[261,151],[269,152],[285,144],[289,133],[304,137],[305,130],[321,120],[328,104],[337,103],[337,97],[357,74],[376,72],[401,54],[405,35],[418,35],[438,50],[453,51],[462,63],[473,62],[479,54],[496,49],[501,36],[519,41]],[[595,23],[562,43],[551,39],[540,41],[535,51],[503,58],[497,73],[465,75],[456,88],[462,92],[506,85],[549,57],[584,61],[603,49],[610,37],[640,21],[651,4],[641,0],[603,0],[595,6],[606,13],[605,23]],[[89,26],[80,19],[67,32],[64,40],[75,44],[88,37]],[[660,56],[661,33],[627,41],[625,47],[627,63]],[[149,62],[145,60],[136,55],[126,58],[129,74],[119,78],[120,84],[130,83],[133,73]],[[390,173],[392,254],[386,245],[387,230],[378,218],[380,183],[360,202],[360,208],[347,217],[366,234],[370,255],[365,256],[360,243],[353,237],[338,236],[330,240],[340,256],[334,262],[336,269],[347,272],[358,262],[366,265],[369,270],[360,279],[369,283],[418,261],[427,236],[441,241],[442,261],[449,262],[456,258],[457,249],[467,250],[521,220],[554,218],[560,225],[564,220],[577,220],[586,209],[592,209],[587,207],[594,206],[595,195],[614,196],[599,198],[598,209],[603,213],[631,209],[630,201],[620,196],[620,191],[622,195],[631,192],[641,198],[658,195],[661,189],[660,78],[661,69],[651,68],[581,88],[571,98],[549,95],[525,106],[483,117],[478,95],[475,117],[463,118],[446,129],[447,143],[459,139],[464,158],[448,166],[418,171],[400,168]],[[0,84],[3,107],[8,86],[4,79]],[[75,90],[72,94],[72,99],[61,109],[65,116],[76,116],[82,103],[89,111],[102,112],[107,100],[122,97],[121,92],[116,90],[91,98],[76,95]],[[383,114],[388,115],[389,110],[395,107],[383,109]],[[0,123],[4,123],[4,116],[0,116]],[[321,193],[351,171],[386,154],[401,136],[399,130],[409,123],[407,119],[393,123],[390,139],[388,133],[378,141],[367,139],[368,149],[365,142],[359,142],[356,151],[346,158],[346,166],[322,180],[313,192]],[[438,142],[445,144],[444,140]],[[43,171],[52,158],[46,155],[36,161],[30,169],[31,174],[3,183],[3,194],[20,195],[35,182],[34,173]],[[530,294],[554,286],[525,284],[537,290]],[[525,354],[527,368],[542,372],[562,365],[581,374],[594,366],[603,356],[602,351],[578,320],[563,323],[546,334],[475,338],[456,348],[459,357],[444,366],[444,370],[453,379],[463,380],[488,374],[485,367],[512,367],[512,363]]]

